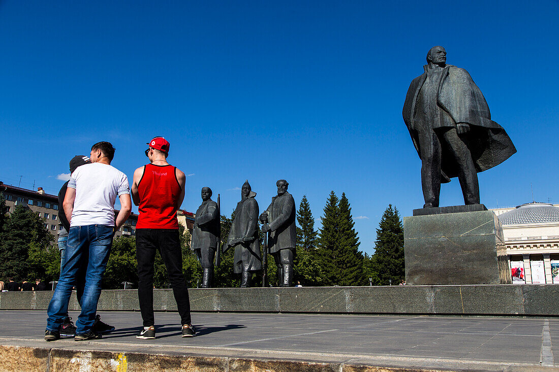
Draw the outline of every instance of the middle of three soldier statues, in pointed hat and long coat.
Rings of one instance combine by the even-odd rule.
[[[254,199],[255,196],[256,193],[247,180],[241,188],[241,201],[235,208],[235,219],[223,250],[225,252],[230,247],[235,247],[233,272],[241,273],[240,287],[243,288],[250,287],[252,274],[262,269],[258,239],[258,202]]]

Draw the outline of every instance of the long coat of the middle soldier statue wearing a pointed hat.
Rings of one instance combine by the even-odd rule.
[[[229,231],[229,243],[235,239],[252,239],[250,242],[235,245],[233,272],[236,274],[242,271],[242,265],[239,264],[241,262],[248,265],[248,271],[262,269],[260,240],[258,239],[259,209],[258,202],[254,199],[255,196],[256,193],[251,191],[247,199],[237,203],[235,219]]]

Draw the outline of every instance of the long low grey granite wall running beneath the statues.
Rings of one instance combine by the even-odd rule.
[[[390,287],[196,288],[192,311],[339,314],[559,316],[559,285],[395,285]],[[0,309],[45,310],[53,292],[3,292]],[[75,295],[70,310],[78,310]],[[154,290],[156,311],[177,311],[170,289]],[[99,311],[139,311],[135,289],[103,290]]]

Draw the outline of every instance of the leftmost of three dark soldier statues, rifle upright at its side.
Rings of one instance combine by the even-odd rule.
[[[211,189],[202,187],[201,194],[202,205],[196,211],[191,249],[196,251],[202,266],[202,288],[211,288],[215,251],[219,249],[220,214],[217,203],[211,199]]]

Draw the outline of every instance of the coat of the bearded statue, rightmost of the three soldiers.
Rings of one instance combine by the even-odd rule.
[[[270,253],[281,249],[295,249],[297,233],[295,230],[295,200],[287,191],[283,195],[272,198],[268,209],[268,225],[270,238],[268,248]]]

